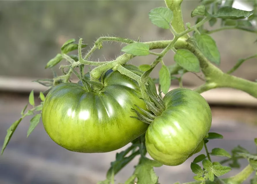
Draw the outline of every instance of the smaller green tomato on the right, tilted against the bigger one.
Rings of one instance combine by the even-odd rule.
[[[174,89],[163,101],[165,110],[146,131],[146,149],[157,162],[177,166],[201,151],[212,114],[206,100],[190,89]]]

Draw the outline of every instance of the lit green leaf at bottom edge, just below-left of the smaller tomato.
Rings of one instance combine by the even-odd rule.
[[[158,176],[155,174],[153,167],[160,167],[162,164],[146,157],[141,157],[139,164],[136,166],[134,175],[138,181],[137,184],[157,183]]]

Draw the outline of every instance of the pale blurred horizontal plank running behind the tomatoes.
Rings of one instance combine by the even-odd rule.
[[[12,78],[0,76],[0,91],[10,92],[30,92],[34,89],[35,92],[45,91],[44,87],[36,82],[33,78]],[[73,81],[77,82],[77,80]],[[186,87],[186,86],[185,86]],[[178,86],[171,86],[170,90],[178,88]],[[194,89],[195,87],[188,87]],[[241,105],[257,107],[257,99],[243,91],[235,89],[218,88],[206,91],[201,94],[210,104],[226,104],[226,105]]]

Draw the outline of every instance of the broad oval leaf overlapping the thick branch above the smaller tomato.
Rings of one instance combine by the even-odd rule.
[[[200,72],[200,63],[197,57],[186,49],[178,49],[174,61],[190,72]]]

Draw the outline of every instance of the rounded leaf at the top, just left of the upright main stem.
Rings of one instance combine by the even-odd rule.
[[[169,29],[173,18],[173,12],[167,7],[154,8],[149,12],[151,22],[163,29]]]

